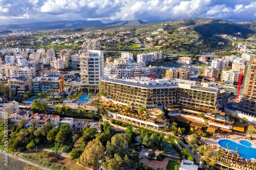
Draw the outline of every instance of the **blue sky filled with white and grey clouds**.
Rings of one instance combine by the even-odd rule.
[[[256,19],[255,0],[0,0],[0,24],[58,20]]]

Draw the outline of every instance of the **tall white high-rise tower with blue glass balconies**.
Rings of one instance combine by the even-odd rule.
[[[84,51],[79,56],[79,59],[81,84],[88,87],[97,87],[99,85],[99,78],[104,74],[103,51]]]

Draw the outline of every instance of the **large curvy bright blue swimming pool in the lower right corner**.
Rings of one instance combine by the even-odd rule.
[[[248,147],[247,145],[250,143],[246,140],[243,140],[241,142],[241,144],[237,143],[237,142],[234,142],[232,140],[228,140],[228,139],[221,139],[218,141],[219,145],[222,147],[222,148],[225,148],[227,149],[227,143],[229,143],[229,147],[228,147],[228,150],[232,150],[234,152],[237,152],[236,151],[236,148],[239,148],[238,150],[238,154],[245,158],[245,159],[250,159],[250,158],[256,158],[256,149],[255,148],[251,148],[251,145],[250,147]],[[242,144],[243,143],[243,144]],[[251,143],[250,143],[251,144]]]

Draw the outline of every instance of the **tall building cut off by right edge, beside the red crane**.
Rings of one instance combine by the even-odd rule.
[[[241,109],[256,115],[256,61],[249,63],[243,88]]]

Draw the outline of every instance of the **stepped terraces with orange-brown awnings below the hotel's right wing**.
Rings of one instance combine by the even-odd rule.
[[[198,108],[184,105],[166,105],[168,116],[177,118],[176,121],[190,125],[198,134],[203,133],[202,128],[207,127],[207,132],[214,134],[218,132],[231,133],[234,119],[229,118],[227,113],[207,108]],[[209,125],[204,124],[207,120]]]

